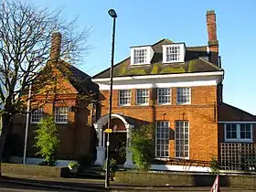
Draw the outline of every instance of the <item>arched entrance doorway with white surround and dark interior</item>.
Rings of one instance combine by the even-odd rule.
[[[104,129],[108,126],[109,115],[103,115],[94,123],[94,128],[97,133],[99,144],[97,149],[97,159],[95,165],[104,165],[106,156],[106,135]],[[117,163],[124,167],[133,167],[132,154],[127,150],[131,144],[131,136],[133,124],[127,121],[127,117],[121,114],[112,113],[112,130],[110,133],[110,157],[115,157]],[[123,147],[125,144],[125,147]],[[120,150],[124,149],[124,155],[120,154]]]

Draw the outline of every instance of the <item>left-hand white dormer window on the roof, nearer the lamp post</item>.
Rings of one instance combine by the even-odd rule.
[[[150,46],[131,48],[131,65],[150,64],[154,50]]]

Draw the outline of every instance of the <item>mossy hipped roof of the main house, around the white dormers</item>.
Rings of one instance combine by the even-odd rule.
[[[175,74],[175,73],[192,73],[192,72],[208,72],[222,70],[213,63],[208,62],[201,57],[208,56],[207,46],[188,47],[186,51],[185,62],[163,64],[163,45],[173,44],[172,41],[164,38],[154,45],[155,51],[151,65],[130,65],[130,57],[123,59],[113,68],[113,77],[154,75],[154,74]],[[101,71],[92,77],[92,79],[101,79],[110,77],[110,68]]]

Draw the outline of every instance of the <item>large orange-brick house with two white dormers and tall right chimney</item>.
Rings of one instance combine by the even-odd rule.
[[[165,163],[171,158],[230,160],[230,144],[236,147],[256,140],[255,116],[222,101],[224,69],[214,11],[207,12],[207,28],[206,46],[189,47],[185,42],[162,39],[131,47],[130,57],[114,66],[112,156],[122,142],[129,147],[133,128],[143,123],[155,124],[155,159]],[[99,85],[101,99],[101,117],[94,123],[99,139],[95,163],[103,165],[110,69],[92,80]],[[129,151],[126,158],[118,159],[125,167],[133,166]]]

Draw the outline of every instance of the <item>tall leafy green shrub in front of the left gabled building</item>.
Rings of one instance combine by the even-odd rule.
[[[36,144],[37,155],[41,155],[47,165],[55,165],[56,152],[59,147],[59,137],[57,126],[52,116],[43,118],[37,124]]]

